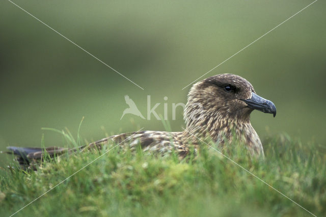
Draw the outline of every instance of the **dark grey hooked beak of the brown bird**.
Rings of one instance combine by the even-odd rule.
[[[249,108],[253,108],[263,113],[273,114],[273,117],[276,116],[276,107],[275,104],[267,99],[264,99],[254,92],[250,99],[241,99],[246,102]]]

